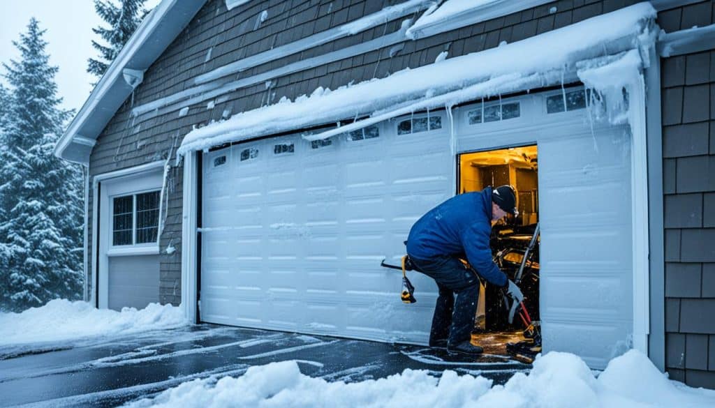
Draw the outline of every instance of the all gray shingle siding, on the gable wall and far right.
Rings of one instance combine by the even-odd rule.
[[[178,110],[133,120],[132,107],[169,96],[194,86],[194,78],[213,69],[260,54],[277,46],[326,31],[384,6],[400,1],[249,1],[227,11],[223,0],[209,0],[164,54],[144,75],[144,82],[117,111],[97,140],[90,158],[90,174],[124,169],[166,159],[194,126],[219,120],[223,111],[237,113],[310,94],[317,86],[335,89],[350,81],[382,78],[405,67],[431,64],[446,49],[460,56],[490,49],[501,41],[518,41],[546,31],[568,26],[635,4],[636,0],[563,0],[519,11],[490,21],[438,34],[417,41],[405,41],[390,56],[393,45],[358,56],[332,61],[310,69],[231,91],[206,109],[205,101],[189,106],[179,117]],[[268,18],[256,24],[262,11]],[[715,1],[678,7],[659,13],[658,22],[666,31],[711,24]],[[315,46],[297,54],[255,66],[240,73],[250,77],[296,61],[320,56],[336,49],[377,39],[400,29],[405,18],[387,21],[355,36]],[[399,48],[399,47],[398,47]],[[209,56],[210,50],[210,58]],[[662,109],[664,134],[664,225],[666,260],[666,365],[671,377],[689,384],[706,384],[715,372],[715,330],[701,316],[715,312],[715,52],[664,59]],[[220,81],[233,80],[235,74]],[[178,109],[178,108],[177,108]],[[174,164],[173,160],[171,161]],[[179,304],[181,294],[182,166],[172,167],[166,226],[160,237],[162,249],[160,293],[162,303]],[[90,228],[92,203],[90,203]],[[91,235],[90,235],[91,237]],[[91,243],[91,239],[89,242]],[[169,244],[176,252],[169,255]],[[89,257],[92,273],[94,258]],[[89,279],[91,282],[91,279]],[[705,353],[706,356],[697,357]],[[690,357],[686,357],[686,356]],[[698,362],[697,360],[701,361]],[[707,361],[704,367],[702,361]],[[709,370],[709,371],[708,371]]]

